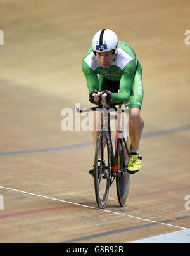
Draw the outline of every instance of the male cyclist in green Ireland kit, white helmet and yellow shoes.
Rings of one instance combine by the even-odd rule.
[[[139,156],[139,143],[143,132],[144,121],[141,117],[143,103],[143,80],[141,64],[129,44],[118,41],[112,30],[99,30],[92,39],[82,59],[82,70],[87,80],[89,101],[91,103],[125,102],[129,107],[129,134],[131,140],[130,156],[127,170],[134,174],[141,169],[142,157]],[[92,131],[94,146],[98,131]],[[101,155],[98,166],[101,165]],[[89,172],[94,173],[94,166]]]

